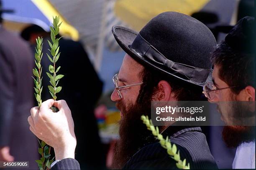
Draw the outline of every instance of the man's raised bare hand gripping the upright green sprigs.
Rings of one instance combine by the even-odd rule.
[[[51,106],[59,108],[52,112]],[[54,148],[56,160],[74,158],[77,140],[74,134],[74,122],[65,100],[46,100],[40,106],[31,108],[28,117],[30,130],[39,139]]]

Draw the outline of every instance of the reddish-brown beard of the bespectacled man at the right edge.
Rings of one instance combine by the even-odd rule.
[[[222,105],[219,103],[217,109],[226,124],[222,130],[222,137],[228,147],[236,148],[243,142],[255,140],[255,126],[246,126],[255,124],[255,113],[251,111],[248,102],[238,101],[236,95],[230,94],[230,100],[223,102]],[[251,117],[250,122],[246,121],[247,117]]]

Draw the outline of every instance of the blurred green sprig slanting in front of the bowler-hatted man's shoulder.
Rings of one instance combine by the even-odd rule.
[[[163,135],[159,133],[159,128],[156,126],[154,127],[152,120],[148,119],[148,116],[141,116],[141,120],[143,123],[147,126],[148,130],[152,131],[152,134],[160,140],[160,144],[163,148],[167,150],[168,155],[171,156],[172,159],[174,159],[177,163],[176,166],[179,169],[190,169],[189,163],[186,166],[186,159],[183,161],[180,159],[179,150],[177,150],[177,146],[175,144],[171,144],[170,140],[168,139],[168,136],[166,139],[163,138]],[[178,151],[178,152],[177,152]]]

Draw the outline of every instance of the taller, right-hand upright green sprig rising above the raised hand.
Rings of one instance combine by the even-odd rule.
[[[62,22],[61,22],[62,23]],[[59,79],[61,79],[62,77],[64,77],[64,75],[57,75],[56,73],[59,71],[60,66],[56,69],[56,62],[59,59],[59,40],[60,38],[56,38],[56,35],[59,34],[59,27],[61,25],[61,23],[59,23],[59,17],[55,17],[53,18],[53,27],[51,27],[51,42],[48,40],[48,43],[51,47],[51,50],[48,49],[51,52],[51,56],[50,57],[48,54],[48,58],[49,60],[53,63],[53,65],[49,65],[49,72],[51,72],[51,74],[49,72],[46,72],[46,74],[48,75],[48,77],[50,78],[50,83],[51,85],[48,86],[51,96],[53,97],[54,100],[57,99],[56,97],[56,93],[61,91],[61,86],[57,87],[58,83],[59,83]]]

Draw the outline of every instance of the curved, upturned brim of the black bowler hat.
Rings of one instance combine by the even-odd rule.
[[[183,79],[175,73],[176,71],[169,70],[168,72],[161,67],[158,67],[151,62],[145,60],[142,56],[138,55],[136,52],[131,50],[130,45],[133,43],[133,40],[136,38],[138,35],[138,32],[131,30],[130,28],[126,28],[120,25],[115,25],[112,28],[113,35],[115,37],[115,40],[118,42],[118,45],[128,54],[130,55],[134,60],[137,62],[141,63],[143,66],[149,66],[155,70],[158,70],[160,72],[163,72],[164,74],[171,76],[172,78],[175,78],[177,80],[182,80],[182,82],[187,82],[189,85],[193,84],[196,85],[197,87],[202,87],[204,84],[198,84],[196,82],[193,82],[189,79]],[[190,84],[191,83],[191,84]]]

